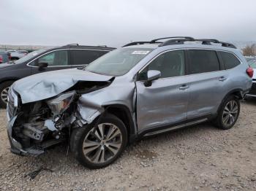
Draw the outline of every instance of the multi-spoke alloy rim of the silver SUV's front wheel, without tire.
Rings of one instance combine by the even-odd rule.
[[[121,143],[121,130],[112,123],[101,123],[86,134],[83,154],[91,163],[105,163],[116,156]]]

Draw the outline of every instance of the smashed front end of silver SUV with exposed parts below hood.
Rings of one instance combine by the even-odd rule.
[[[88,109],[93,114],[88,120],[80,117],[80,95],[99,90],[108,82],[78,82],[64,93],[42,101],[22,104],[15,90],[10,88],[7,106],[7,132],[11,151],[19,155],[40,155],[46,148],[69,140],[73,128],[89,124],[100,112]]]

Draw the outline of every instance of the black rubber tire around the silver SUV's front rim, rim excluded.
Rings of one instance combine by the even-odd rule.
[[[121,147],[119,148],[116,155],[110,158],[110,160],[107,160],[104,163],[91,163],[91,161],[86,158],[86,155],[83,152],[83,141],[86,139],[86,135],[90,132],[90,130],[94,128],[95,122],[92,122],[91,125],[87,125],[83,128],[76,128],[72,131],[70,148],[75,155],[75,158],[87,168],[104,168],[110,165],[121,155],[121,153],[127,146],[127,128],[125,127],[124,122],[119,120],[118,117],[113,114],[107,114],[105,117],[101,118],[99,124],[101,123],[112,123],[113,125],[116,125],[116,127],[118,127],[118,129],[121,131],[122,136]]]

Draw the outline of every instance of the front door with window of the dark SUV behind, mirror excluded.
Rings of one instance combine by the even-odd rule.
[[[69,50],[54,50],[44,55],[41,55],[32,63],[29,63],[29,66],[32,66],[32,74],[37,74],[45,71],[54,71],[60,69],[70,69],[72,68],[69,61]],[[38,63],[48,63],[48,66],[45,68],[39,68]]]

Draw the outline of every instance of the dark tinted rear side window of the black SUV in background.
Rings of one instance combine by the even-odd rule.
[[[72,65],[87,65],[109,51],[102,50],[70,50]]]

